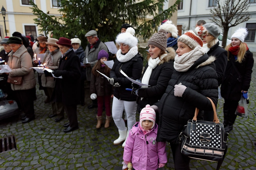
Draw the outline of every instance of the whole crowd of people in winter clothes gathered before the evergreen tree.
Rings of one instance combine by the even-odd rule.
[[[213,121],[213,108],[207,97],[216,106],[219,87],[225,100],[225,131],[233,129],[236,108],[242,92],[249,90],[254,63],[244,43],[247,33],[244,28],[238,29],[231,37],[231,44],[223,49],[215,24],[199,21],[195,30],[179,36],[172,21],[165,20],[147,42],[147,63],[143,69],[145,59],[138,52],[135,30],[127,23],[116,36],[118,51],[112,68],[104,63],[110,59],[109,51],[95,30],[85,35],[88,41],[85,51],[79,38],[55,39],[40,34],[38,41],[33,42],[31,35],[15,32],[0,42],[4,48],[0,56],[12,69],[2,76],[18,82],[7,83],[7,92],[25,113],[22,122],[32,121],[36,81],[34,71],[29,68],[40,67],[35,55],[43,54],[43,67],[53,72],[38,73],[39,89],[45,92],[45,103],[51,102],[50,118],[57,117],[55,122],[59,122],[66,112],[69,122],[63,125],[65,133],[79,128],[77,104],[85,105],[87,80],[90,94],[97,95],[88,106],[98,107],[96,128],[101,128],[105,108],[104,128],[110,126],[113,118],[119,133],[113,144],[122,144],[124,148],[124,167],[128,163],[136,170],[164,167],[167,141],[175,169],[187,170],[190,158],[180,151],[179,134],[194,117],[196,108],[198,119]],[[121,71],[136,82],[132,83]],[[140,113],[138,122],[136,112]]]

